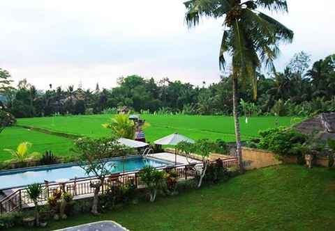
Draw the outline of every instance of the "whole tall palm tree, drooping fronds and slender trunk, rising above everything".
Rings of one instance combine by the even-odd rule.
[[[256,70],[262,63],[274,70],[274,59],[278,56],[279,42],[292,42],[293,32],[280,22],[258,11],[265,8],[275,12],[287,12],[286,0],[191,0],[186,1],[186,22],[196,26],[201,17],[223,19],[223,38],[219,53],[220,68],[224,69],[224,54],[232,56],[232,89],[234,125],[237,142],[239,167],[241,161],[241,134],[237,113],[237,79],[249,79],[253,85],[253,95],[257,97]]]

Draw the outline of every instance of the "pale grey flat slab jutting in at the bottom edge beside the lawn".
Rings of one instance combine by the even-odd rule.
[[[99,221],[54,231],[128,231],[114,221]]]

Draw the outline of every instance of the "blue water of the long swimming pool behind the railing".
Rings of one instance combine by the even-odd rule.
[[[140,170],[148,165],[154,168],[173,165],[171,162],[151,157],[126,157],[124,160],[114,158],[110,159],[108,164],[112,166],[112,173],[121,173],[123,170],[125,172]],[[54,182],[57,179],[74,179],[75,177],[87,177],[87,174],[80,166],[73,164],[6,170],[0,171],[0,189],[25,186],[33,183],[44,183],[44,180]]]

